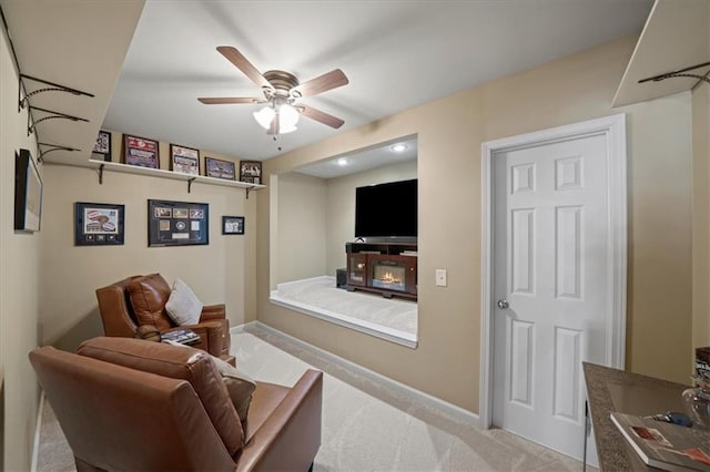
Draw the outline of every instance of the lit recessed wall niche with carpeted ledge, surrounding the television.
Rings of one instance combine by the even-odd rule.
[[[273,304],[416,348],[416,234],[357,237],[355,202],[358,187],[416,179],[417,151],[416,135],[399,137],[276,176],[276,185],[272,182],[270,186],[275,204],[271,225]],[[398,205],[407,204],[396,195],[386,199],[383,207],[393,217],[403,211]],[[415,194],[415,208],[416,203]],[[406,284],[404,275],[399,281],[383,281],[396,274],[381,274],[382,264],[366,266],[367,254],[374,260],[377,248],[390,245],[398,252],[393,260],[404,258],[409,270],[415,268]],[[373,286],[379,290],[368,289],[366,284],[357,286],[355,278],[348,277],[353,275],[353,247],[365,260],[361,269],[377,270],[375,277],[365,278],[377,280]],[[407,254],[400,254],[403,247]],[[399,286],[407,289],[390,289]]]

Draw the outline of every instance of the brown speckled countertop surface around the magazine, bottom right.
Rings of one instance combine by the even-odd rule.
[[[649,415],[684,412],[681,393],[690,386],[582,362],[587,401],[601,471],[656,470],[639,459],[609,413]],[[585,438],[586,440],[586,438]]]

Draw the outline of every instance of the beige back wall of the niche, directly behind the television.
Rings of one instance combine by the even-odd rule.
[[[336,269],[345,267],[345,243],[355,238],[355,188],[409,178],[417,178],[416,161],[327,179],[325,275],[335,276]],[[396,202],[383,204],[392,205],[393,212],[397,211]]]

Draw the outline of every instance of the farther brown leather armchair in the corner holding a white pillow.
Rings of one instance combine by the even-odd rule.
[[[152,326],[160,332],[189,328],[200,336],[193,347],[234,365],[230,356],[230,321],[224,305],[205,305],[197,325],[176,326],[168,316],[165,304],[171,287],[160,274],[132,276],[97,289],[99,311],[105,336],[140,337],[139,327]]]

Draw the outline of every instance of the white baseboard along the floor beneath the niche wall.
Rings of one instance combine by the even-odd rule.
[[[468,410],[465,410],[460,407],[457,407],[453,403],[449,403],[445,400],[442,400],[437,397],[434,397],[429,393],[425,393],[420,390],[414,389],[407,384],[404,384],[402,382],[398,382],[397,380],[393,380],[389,377],[385,377],[382,373],[377,373],[374,370],[369,370],[363,366],[359,366],[355,362],[352,362],[347,359],[344,359],[339,356],[336,356],[332,352],[328,352],[324,349],[321,349],[316,346],[313,346],[308,342],[302,341],[298,338],[294,338],[291,335],[287,335],[283,331],[277,330],[276,328],[272,328],[268,325],[264,325],[261,321],[250,321],[247,324],[244,325],[240,325],[240,326],[235,326],[233,328],[230,329],[231,334],[239,334],[239,332],[248,332],[245,328],[248,327],[255,327],[258,329],[263,329],[264,331],[268,331],[274,336],[278,336],[281,338],[287,339],[288,341],[298,345],[302,348],[312,350],[318,355],[321,355],[322,357],[326,358],[328,361],[334,362],[334,363],[338,363],[345,368],[348,368],[349,370],[353,370],[355,372],[357,372],[358,374],[366,377],[367,379],[377,382],[379,384],[383,384],[392,390],[395,390],[396,392],[404,394],[406,397],[409,397],[412,399],[418,400],[422,403],[425,403],[426,406],[440,410],[449,415],[454,415],[459,420],[464,420],[466,423],[469,423],[471,427],[475,428],[479,428],[480,427],[480,420],[478,414],[470,412]]]

